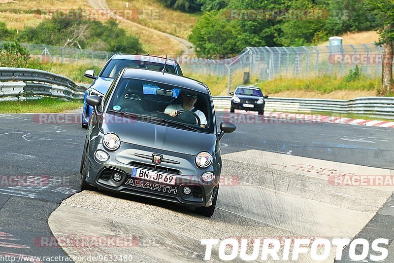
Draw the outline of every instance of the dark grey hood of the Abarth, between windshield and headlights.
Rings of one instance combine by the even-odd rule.
[[[213,154],[219,143],[215,134],[143,122],[118,114],[103,113],[99,128],[104,134],[117,134],[121,142],[191,155],[200,151]]]

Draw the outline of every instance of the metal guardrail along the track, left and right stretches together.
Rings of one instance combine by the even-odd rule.
[[[82,99],[89,84],[41,70],[0,67],[0,102],[51,96]],[[231,96],[214,96],[215,108],[230,109]],[[366,114],[394,119],[394,97],[362,97],[352,100],[275,98],[265,99],[266,111],[332,112]]]

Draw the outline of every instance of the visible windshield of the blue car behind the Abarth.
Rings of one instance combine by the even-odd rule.
[[[165,59],[164,59],[165,60]],[[101,74],[101,77],[115,78],[116,75],[123,68],[139,68],[139,69],[149,69],[149,70],[163,70],[164,63],[143,61],[143,60],[133,60],[133,59],[112,59],[108,65],[105,67]],[[165,65],[165,72],[176,74],[175,66],[169,65],[168,60]]]

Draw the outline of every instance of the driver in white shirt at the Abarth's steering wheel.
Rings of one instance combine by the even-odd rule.
[[[182,92],[181,98],[182,98],[181,104],[168,105],[167,108],[165,108],[164,113],[167,113],[172,117],[176,117],[178,115],[178,111],[182,111],[182,110],[192,111],[196,113],[197,116],[200,118],[201,127],[206,128],[207,121],[204,113],[194,108],[194,105],[197,102],[197,94]]]

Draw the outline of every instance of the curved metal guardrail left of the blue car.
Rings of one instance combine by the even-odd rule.
[[[40,96],[82,99],[88,86],[47,71],[0,67],[0,101],[30,100]]]

